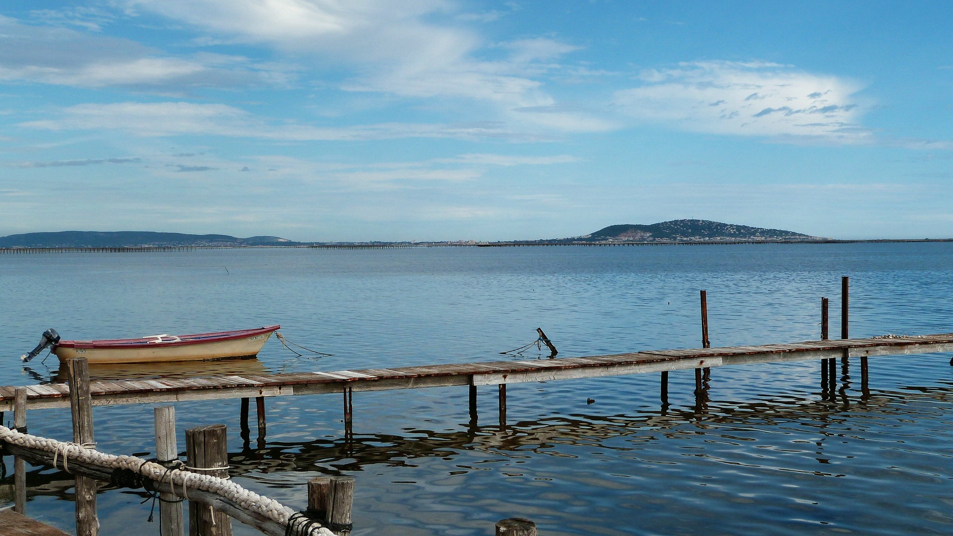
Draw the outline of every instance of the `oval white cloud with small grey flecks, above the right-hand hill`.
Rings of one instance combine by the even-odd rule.
[[[858,143],[862,86],[773,63],[683,63],[640,75],[615,103],[636,119],[700,133],[813,137]]]

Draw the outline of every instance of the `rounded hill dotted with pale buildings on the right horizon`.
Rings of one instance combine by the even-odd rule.
[[[566,242],[733,242],[821,240],[793,231],[763,229],[707,219],[673,219],[650,225],[610,225],[582,237],[561,238]]]

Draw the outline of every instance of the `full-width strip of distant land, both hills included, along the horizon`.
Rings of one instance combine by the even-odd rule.
[[[188,235],[149,231],[61,231],[27,233],[0,237],[0,251],[164,251],[209,248],[401,248],[435,246],[558,246],[558,245],[701,245],[701,244],[778,244],[778,243],[877,243],[947,242],[953,238],[871,238],[838,239],[812,237],[784,231],[708,221],[677,219],[651,225],[610,225],[579,237],[536,240],[478,241],[366,241],[296,242],[282,237],[230,237],[228,235]]]

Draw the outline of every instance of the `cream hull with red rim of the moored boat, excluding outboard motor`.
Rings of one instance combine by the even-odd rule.
[[[170,361],[208,361],[226,358],[253,357],[272,336],[272,332],[241,339],[213,340],[200,344],[158,342],[137,348],[56,347],[53,353],[60,361],[86,358],[95,363],[156,363]]]

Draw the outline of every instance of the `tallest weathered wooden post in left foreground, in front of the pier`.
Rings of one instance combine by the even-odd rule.
[[[72,441],[87,448],[94,448],[90,365],[86,358],[73,358],[67,361],[67,369],[70,376]],[[75,482],[76,536],[96,536],[99,533],[99,520],[96,517],[96,481],[90,477],[77,475]]]

